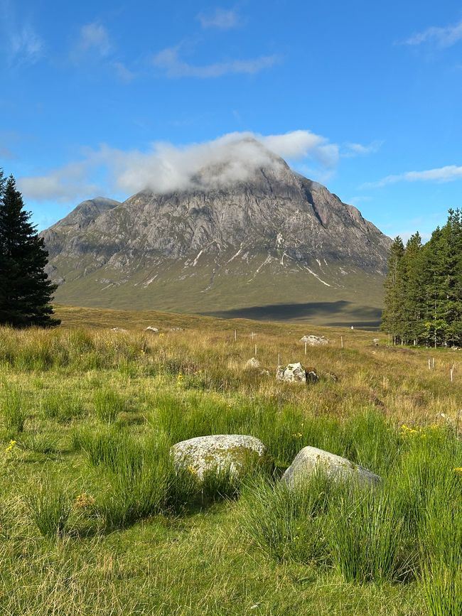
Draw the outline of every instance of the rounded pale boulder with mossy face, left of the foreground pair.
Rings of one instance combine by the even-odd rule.
[[[188,468],[198,479],[203,479],[209,470],[229,470],[232,475],[243,475],[252,465],[264,463],[266,452],[262,441],[243,434],[197,436],[171,448],[177,467]]]

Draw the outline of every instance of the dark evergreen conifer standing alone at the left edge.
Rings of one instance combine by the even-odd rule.
[[[57,285],[48,280],[43,238],[38,237],[11,175],[0,172],[0,324],[55,327],[50,306]]]

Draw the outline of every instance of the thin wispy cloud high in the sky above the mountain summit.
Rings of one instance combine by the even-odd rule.
[[[181,60],[178,47],[161,50],[152,58],[155,67],[161,69],[167,77],[199,77],[210,79],[236,73],[254,75],[265,68],[274,66],[279,61],[276,55],[263,55],[252,60],[229,60],[203,66],[189,64]]]

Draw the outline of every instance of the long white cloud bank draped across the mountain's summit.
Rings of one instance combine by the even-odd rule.
[[[251,178],[257,168],[283,168],[279,156],[306,161],[321,179],[335,170],[338,146],[301,130],[267,136],[236,132],[187,146],[155,142],[144,152],[100,146],[87,150],[78,163],[48,175],[21,178],[18,185],[26,198],[68,202],[104,192],[131,195],[140,190],[214,190]],[[105,190],[92,180],[102,175],[108,178]]]

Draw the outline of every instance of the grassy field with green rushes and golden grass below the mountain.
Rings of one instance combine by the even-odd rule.
[[[462,613],[462,351],[306,324],[57,312],[58,330],[0,329],[2,614]],[[309,333],[331,342],[305,356]],[[269,375],[244,368],[252,356]],[[278,356],[320,381],[276,382]],[[205,484],[173,467],[173,443],[213,433],[260,438],[272,467]],[[279,477],[305,445],[380,487],[320,475],[287,489]]]

